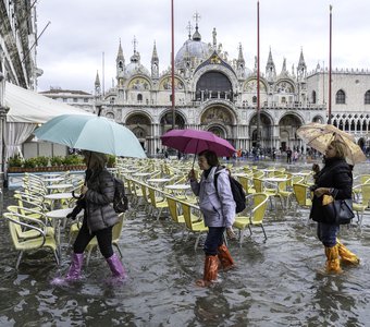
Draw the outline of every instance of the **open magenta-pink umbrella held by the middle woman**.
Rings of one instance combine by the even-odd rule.
[[[226,141],[211,132],[198,130],[171,130],[161,136],[162,144],[184,154],[199,154],[209,149],[219,157],[231,157],[236,150]]]

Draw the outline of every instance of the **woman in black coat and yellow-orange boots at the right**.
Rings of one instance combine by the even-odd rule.
[[[335,199],[351,198],[353,174],[345,156],[345,144],[332,141],[325,150],[325,165],[316,173],[316,184],[311,187],[313,201],[310,218],[318,222],[318,238],[325,246],[328,272],[341,272],[341,262],[359,264],[359,258],[338,242],[340,226],[329,220],[322,205],[325,194],[332,195]]]

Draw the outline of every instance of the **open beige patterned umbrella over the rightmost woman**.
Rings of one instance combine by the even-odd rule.
[[[340,129],[320,123],[309,123],[297,130],[297,135],[310,147],[324,154],[328,145],[333,140],[342,141],[347,147],[346,161],[349,165],[366,161],[366,156],[361,148],[355,143],[355,137]]]

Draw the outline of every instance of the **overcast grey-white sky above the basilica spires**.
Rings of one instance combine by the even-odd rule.
[[[44,70],[38,90],[50,86],[94,90],[97,71],[104,88],[115,81],[115,57],[120,39],[126,64],[133,55],[133,39],[141,63],[150,71],[156,41],[160,72],[171,58],[171,0],[38,0],[39,38],[37,64]],[[308,71],[318,62],[329,62],[329,5],[333,5],[334,68],[369,68],[369,0],[260,0],[260,63],[264,72],[271,47],[276,72],[284,58],[287,69],[297,66],[300,49]],[[254,68],[257,55],[256,0],[174,0],[175,53],[187,39],[186,26],[195,26],[194,13],[200,14],[199,33],[212,41],[212,29],[229,59],[237,57],[243,46],[244,59]],[[104,52],[104,56],[102,56]]]

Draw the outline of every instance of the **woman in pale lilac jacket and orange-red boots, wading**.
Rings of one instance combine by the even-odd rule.
[[[207,287],[217,279],[219,261],[224,269],[234,266],[234,261],[224,244],[223,233],[234,237],[232,226],[235,220],[235,202],[233,198],[229,172],[218,169],[219,159],[214,152],[203,150],[198,156],[198,165],[202,174],[198,182],[194,169],[188,173],[192,190],[199,196],[199,207],[208,227],[207,240],[203,245],[206,254],[203,278],[197,280],[200,287]],[[217,185],[214,174],[218,173]]]

